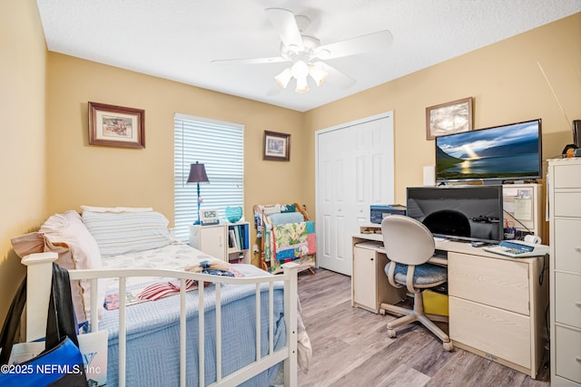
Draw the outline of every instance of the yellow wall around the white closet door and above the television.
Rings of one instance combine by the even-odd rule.
[[[581,13],[306,112],[306,203],[314,207],[315,131],[394,111],[395,200],[405,203],[406,187],[423,184],[423,166],[435,160],[426,107],[469,96],[474,128],[540,117],[544,158],[560,155],[581,119]]]

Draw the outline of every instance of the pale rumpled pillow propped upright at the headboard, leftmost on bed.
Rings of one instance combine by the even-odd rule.
[[[24,236],[14,237],[12,245],[18,256],[24,257],[33,253],[54,252],[58,254],[55,263],[67,270],[73,269],[98,269],[102,268],[99,247],[91,236],[78,212],[65,211],[62,214],[54,214],[46,219],[38,232]],[[103,302],[106,286],[99,285],[98,302],[99,318],[103,314]],[[74,313],[77,323],[82,324],[91,316],[91,283],[88,280],[71,281],[71,293],[73,295]]]

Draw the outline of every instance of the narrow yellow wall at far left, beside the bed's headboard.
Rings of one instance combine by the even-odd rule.
[[[46,46],[34,0],[0,3],[0,324],[25,268],[10,238],[46,218]]]

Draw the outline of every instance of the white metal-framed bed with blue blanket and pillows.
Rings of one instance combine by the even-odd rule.
[[[27,341],[44,336],[38,323],[46,321],[52,262],[67,266],[64,260],[73,258],[65,268],[77,322],[82,331],[108,332],[107,385],[296,385],[298,369],[310,357],[298,313],[296,265],[272,276],[256,266],[224,263],[162,231],[167,219],[151,208],[90,209],[82,217],[75,211],[55,214],[38,233],[13,239],[27,266]],[[128,223],[137,223],[140,235],[125,235]],[[76,235],[67,239],[71,230]],[[132,237],[139,251],[127,243]],[[94,250],[87,248],[92,238],[99,262],[79,252]],[[221,266],[221,273],[213,266]],[[144,291],[152,286],[172,291],[153,301],[158,294],[152,298]]]

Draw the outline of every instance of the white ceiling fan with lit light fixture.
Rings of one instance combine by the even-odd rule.
[[[213,60],[212,63],[259,64],[289,62],[291,65],[274,77],[275,81],[283,89],[286,89],[291,80],[295,79],[295,92],[309,92],[309,77],[317,86],[320,86],[329,78],[341,89],[347,89],[355,84],[356,81],[324,61],[386,49],[393,42],[393,35],[388,30],[384,30],[332,44],[320,45],[320,41],[316,37],[303,34],[310,24],[310,19],[307,16],[293,15],[291,11],[282,8],[267,8],[265,12],[271,20],[271,24],[281,36],[280,56],[222,59]]]

